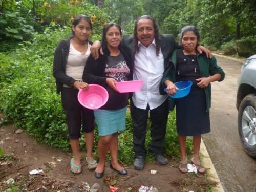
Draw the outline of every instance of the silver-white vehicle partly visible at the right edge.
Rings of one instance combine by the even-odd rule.
[[[256,157],[256,55],[244,63],[238,79],[238,132],[244,151]]]

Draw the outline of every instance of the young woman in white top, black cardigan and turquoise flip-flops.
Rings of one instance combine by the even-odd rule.
[[[92,170],[97,167],[97,162],[93,158],[93,111],[83,108],[77,99],[80,89],[89,88],[86,82],[82,82],[82,74],[90,55],[89,37],[91,31],[90,18],[84,15],[76,16],[72,23],[73,37],[60,42],[55,50],[53,63],[53,75],[56,78],[57,92],[61,92],[61,101],[66,113],[69,140],[73,152],[70,169],[76,174],[81,173],[79,153],[81,125],[86,139],[88,169]],[[61,85],[60,88],[58,88],[59,84]]]

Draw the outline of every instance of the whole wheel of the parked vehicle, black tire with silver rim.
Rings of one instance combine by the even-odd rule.
[[[247,95],[238,110],[238,132],[244,151],[256,158],[256,94]]]

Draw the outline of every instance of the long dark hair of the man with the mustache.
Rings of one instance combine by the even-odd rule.
[[[156,41],[156,55],[159,55],[159,51],[160,51],[160,32],[159,32],[159,27],[155,21],[155,19],[151,16],[148,15],[143,15],[141,17],[139,17],[135,23],[134,23],[134,31],[133,31],[133,44],[134,44],[134,51],[139,52],[139,45],[138,45],[138,37],[137,37],[137,28],[138,28],[138,22],[141,19],[150,19],[153,23],[154,26],[154,32],[155,32],[155,41]]]

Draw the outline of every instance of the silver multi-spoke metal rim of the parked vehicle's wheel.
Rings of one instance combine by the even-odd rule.
[[[243,111],[242,131],[248,145],[256,145],[256,111],[252,106],[246,106]]]

